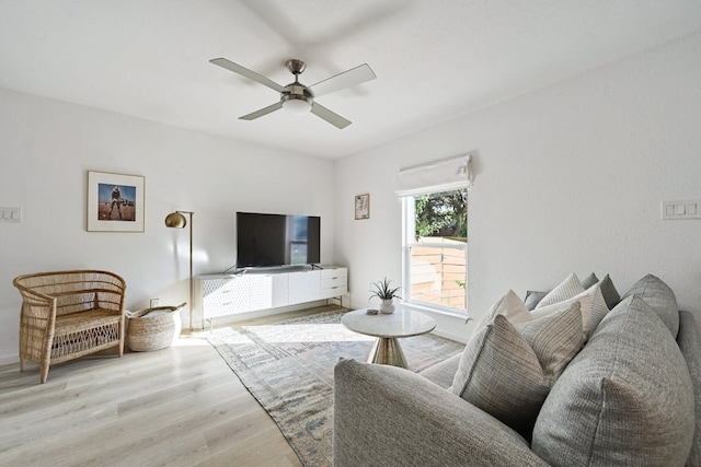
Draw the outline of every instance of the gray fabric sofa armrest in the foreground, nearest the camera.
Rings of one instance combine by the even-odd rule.
[[[343,359],[334,374],[335,467],[548,465],[515,431],[421,375]]]

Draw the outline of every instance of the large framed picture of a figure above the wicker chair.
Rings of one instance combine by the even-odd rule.
[[[88,232],[143,232],[146,179],[88,171]]]

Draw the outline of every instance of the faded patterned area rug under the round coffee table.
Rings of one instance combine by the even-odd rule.
[[[375,342],[346,329],[344,312],[219,328],[209,337],[307,467],[331,466],[334,365],[340,358],[366,361]],[[404,338],[401,346],[415,372],[463,349],[434,335]]]

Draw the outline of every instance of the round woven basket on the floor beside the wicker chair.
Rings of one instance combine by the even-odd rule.
[[[126,312],[127,346],[135,352],[148,352],[170,347],[175,337],[176,311],[185,306],[157,306],[154,308]]]

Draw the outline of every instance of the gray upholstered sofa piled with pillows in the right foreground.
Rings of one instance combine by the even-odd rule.
[[[495,305],[462,355],[420,374],[341,360],[334,466],[701,466],[693,315],[654,276],[600,318],[589,290],[524,323]]]

